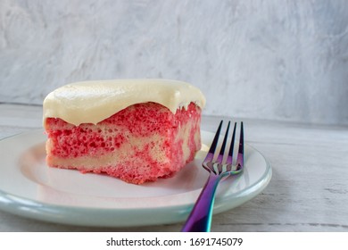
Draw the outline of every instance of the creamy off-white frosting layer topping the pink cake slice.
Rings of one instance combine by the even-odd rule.
[[[94,123],[132,104],[154,102],[175,113],[194,102],[205,105],[202,92],[186,82],[169,79],[115,79],[81,81],[65,85],[44,100],[47,117],[61,118],[74,125]]]

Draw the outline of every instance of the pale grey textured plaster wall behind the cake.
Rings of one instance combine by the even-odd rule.
[[[348,124],[348,1],[0,0],[0,102],[117,78],[191,82],[205,114]]]

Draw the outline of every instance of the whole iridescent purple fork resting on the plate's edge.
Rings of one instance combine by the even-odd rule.
[[[237,175],[244,169],[243,121],[241,122],[239,147],[238,154],[236,156],[235,167],[233,166],[233,151],[236,139],[236,122],[232,133],[228,155],[225,154],[225,148],[228,140],[230,121],[228,121],[228,127],[226,129],[225,137],[220,147],[220,153],[217,155],[216,160],[214,160],[214,154],[218,145],[222,123],[223,121],[220,121],[219,128],[215,133],[209,152],[205,156],[202,164],[203,168],[206,171],[209,171],[209,178],[207,179],[192,212],[188,216],[186,223],[181,230],[183,232],[209,232],[211,230],[211,215],[214,204],[214,196],[220,180],[231,175]]]

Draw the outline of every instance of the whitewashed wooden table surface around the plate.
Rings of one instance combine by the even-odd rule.
[[[225,117],[203,116],[214,131]],[[240,119],[236,119],[240,121]],[[215,214],[211,231],[348,231],[348,128],[244,119],[245,141],[272,166],[269,186]],[[0,104],[0,139],[42,128],[42,106]],[[55,224],[0,211],[0,231],[179,231],[182,223],[104,228]]]

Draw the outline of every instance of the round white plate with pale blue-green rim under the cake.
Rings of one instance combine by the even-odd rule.
[[[141,226],[185,221],[208,177],[201,162],[213,133],[202,131],[194,162],[171,179],[137,186],[106,175],[49,168],[46,135],[33,131],[0,141],[0,209],[41,221],[86,226]],[[220,183],[214,213],[257,196],[271,178],[266,159],[244,148],[244,172]]]

